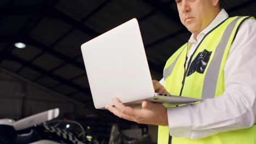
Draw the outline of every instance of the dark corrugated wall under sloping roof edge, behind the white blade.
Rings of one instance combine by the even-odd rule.
[[[8,71],[0,71],[0,86],[0,118],[20,119],[56,107],[60,108],[61,118],[64,113],[75,113],[75,107],[83,107],[83,104],[19,79]]]

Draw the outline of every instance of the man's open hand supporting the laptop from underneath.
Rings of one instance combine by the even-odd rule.
[[[167,110],[162,104],[144,100],[142,109],[133,109],[123,105],[118,98],[113,98],[113,101],[114,106],[107,105],[105,109],[120,118],[143,124],[168,125]]]

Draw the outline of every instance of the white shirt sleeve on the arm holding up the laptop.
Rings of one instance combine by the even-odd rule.
[[[256,118],[256,21],[246,20],[224,68],[225,92],[199,104],[167,108],[170,135],[201,139],[252,127]]]

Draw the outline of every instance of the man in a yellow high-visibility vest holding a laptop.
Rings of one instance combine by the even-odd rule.
[[[158,143],[256,143],[256,21],[228,19],[218,0],[176,3],[192,35],[168,59],[162,85],[153,85],[159,93],[205,100],[178,107],[143,101],[142,109],[132,109],[113,98],[114,106],[106,109],[159,125]]]

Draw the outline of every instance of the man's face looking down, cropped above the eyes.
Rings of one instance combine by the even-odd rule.
[[[179,18],[191,33],[199,34],[216,16],[214,0],[175,0]]]

